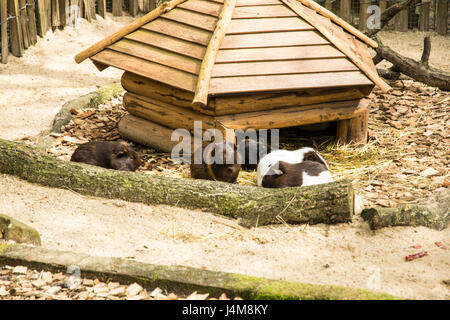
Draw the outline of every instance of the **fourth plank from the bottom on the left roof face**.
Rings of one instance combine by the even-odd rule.
[[[144,26],[142,29],[163,33],[168,36],[194,42],[207,46],[211,39],[212,33],[199,28],[191,27],[176,21],[159,18]]]

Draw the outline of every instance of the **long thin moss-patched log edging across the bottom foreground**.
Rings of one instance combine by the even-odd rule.
[[[67,273],[68,267],[80,268],[82,277],[123,284],[137,282],[144,288],[159,287],[169,292],[191,294],[193,291],[210,296],[241,297],[251,300],[399,300],[384,292],[320,285],[285,280],[270,280],[244,274],[197,269],[187,266],[154,265],[129,259],[96,257],[84,253],[30,247],[2,245],[2,265],[27,266],[51,272]]]

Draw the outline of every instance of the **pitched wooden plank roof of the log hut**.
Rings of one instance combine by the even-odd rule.
[[[90,57],[101,70],[113,66],[197,94],[203,89],[203,103],[210,95],[374,83],[387,90],[362,41],[376,43],[316,6],[310,0],[174,0],[76,61]],[[208,63],[211,70],[202,70]]]

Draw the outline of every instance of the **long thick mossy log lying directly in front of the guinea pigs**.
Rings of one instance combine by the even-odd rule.
[[[252,227],[287,223],[349,222],[353,188],[348,181],[285,189],[149,176],[55,159],[22,143],[0,139],[0,173],[80,194],[148,205],[201,209]]]

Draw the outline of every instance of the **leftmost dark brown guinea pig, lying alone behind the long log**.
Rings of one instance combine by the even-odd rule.
[[[142,163],[131,147],[118,141],[84,143],[78,146],[70,161],[121,171],[136,171]]]

